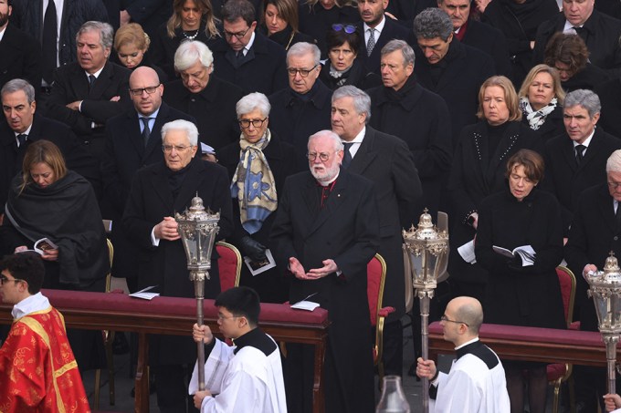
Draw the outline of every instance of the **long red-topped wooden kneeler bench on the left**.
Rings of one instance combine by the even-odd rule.
[[[63,290],[42,290],[51,305],[65,317],[70,328],[88,330],[128,331],[138,334],[138,365],[136,368],[136,413],[149,411],[147,335],[187,336],[192,340],[196,322],[196,300],[192,298],[156,297],[152,301],[125,294],[86,293]],[[0,323],[11,324],[13,305],[0,303]],[[214,300],[205,300],[205,325],[218,332],[217,308]],[[304,343],[315,346],[313,413],[324,409],[321,370],[328,336],[328,312],[293,310],[289,305],[262,304],[259,324],[276,341]]]

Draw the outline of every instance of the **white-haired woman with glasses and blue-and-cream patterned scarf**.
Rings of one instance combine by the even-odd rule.
[[[239,141],[218,150],[216,157],[233,179],[235,232],[231,242],[242,255],[260,263],[266,260],[279,191],[285,178],[296,171],[295,156],[293,146],[268,129],[270,105],[265,95],[251,93],[237,102],[236,109]],[[289,296],[289,286],[278,268],[253,276],[244,263],[239,284],[254,288],[264,303],[283,303]]]

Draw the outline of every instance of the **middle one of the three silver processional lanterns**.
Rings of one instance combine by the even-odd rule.
[[[429,357],[429,303],[434,297],[437,279],[447,271],[448,232],[439,231],[427,210],[420,216],[417,228],[403,232],[405,249],[410,257],[412,284],[420,300],[422,356]],[[423,379],[423,388],[429,387]],[[429,411],[429,392],[423,392],[423,411]]]

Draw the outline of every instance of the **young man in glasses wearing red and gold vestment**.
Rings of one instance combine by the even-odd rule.
[[[65,322],[40,293],[45,269],[37,253],[0,262],[2,302],[12,304],[11,330],[0,348],[0,406],[5,412],[90,411]]]

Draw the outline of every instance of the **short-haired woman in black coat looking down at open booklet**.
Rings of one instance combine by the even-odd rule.
[[[519,150],[507,161],[509,188],[490,195],[479,208],[475,253],[489,271],[484,304],[487,323],[564,328],[563,299],[556,266],[563,261],[563,222],[553,194],[537,191],[543,159],[532,150]],[[507,250],[531,246],[534,262]],[[543,363],[503,361],[511,412],[524,411],[524,381],[528,381],[532,413],[545,412],[548,387]],[[524,375],[524,370],[528,371]]]

